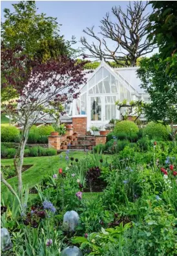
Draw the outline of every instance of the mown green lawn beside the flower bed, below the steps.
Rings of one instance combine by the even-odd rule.
[[[28,185],[28,187],[34,187],[45,174],[58,172],[59,168],[64,168],[67,165],[65,160],[65,153],[61,153],[57,156],[41,156],[41,157],[25,157],[23,165],[33,165],[30,169],[26,170],[22,174],[23,185]],[[70,156],[74,158],[84,157],[84,152],[70,152]],[[1,165],[13,165],[13,159],[1,159]],[[8,182],[13,186],[17,187],[17,178],[10,178]],[[1,183],[1,192],[5,192],[6,187]]]

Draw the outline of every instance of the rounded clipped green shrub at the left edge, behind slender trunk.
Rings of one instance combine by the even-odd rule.
[[[1,141],[19,141],[19,130],[15,126],[1,126]]]

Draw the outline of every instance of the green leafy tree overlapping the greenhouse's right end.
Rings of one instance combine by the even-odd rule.
[[[166,62],[158,54],[141,60],[138,77],[141,87],[150,95],[151,103],[145,105],[145,116],[148,121],[162,121],[171,124],[174,140],[173,124],[177,121],[177,80],[176,74],[165,73]]]

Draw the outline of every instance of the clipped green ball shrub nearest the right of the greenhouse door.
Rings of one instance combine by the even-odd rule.
[[[116,135],[120,133],[124,133],[126,135],[137,134],[138,131],[138,126],[132,121],[117,122],[114,128],[114,133]]]

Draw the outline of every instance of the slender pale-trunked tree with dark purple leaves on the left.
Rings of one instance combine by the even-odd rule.
[[[87,80],[82,72],[82,63],[76,64],[76,61],[65,56],[41,63],[38,60],[30,60],[25,54],[22,55],[22,51],[21,47],[14,50],[3,46],[1,48],[1,73],[6,79],[2,87],[12,86],[20,96],[17,108],[14,108],[13,101],[4,106],[23,128],[14,157],[19,192],[23,185],[21,169],[30,127],[39,117],[45,117],[48,102],[71,102],[79,95],[75,93],[76,90]],[[2,181],[6,185],[6,182]],[[8,188],[9,186],[8,184]],[[13,192],[12,187],[10,190]]]

